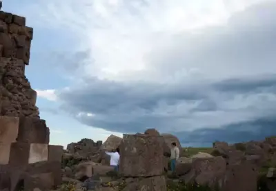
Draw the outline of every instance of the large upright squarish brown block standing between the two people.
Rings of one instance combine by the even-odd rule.
[[[119,172],[125,177],[152,177],[164,172],[163,144],[159,136],[124,134]]]

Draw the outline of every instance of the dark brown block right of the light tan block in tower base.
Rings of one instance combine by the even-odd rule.
[[[24,143],[49,143],[46,121],[32,117],[20,117],[17,141]]]

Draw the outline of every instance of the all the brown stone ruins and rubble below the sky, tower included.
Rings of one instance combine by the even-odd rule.
[[[82,139],[66,150],[49,145],[50,130],[25,76],[32,35],[24,17],[0,11],[0,191],[276,190],[276,137],[215,142],[195,152],[181,148],[172,134],[148,129],[123,138],[110,135],[104,143]],[[175,173],[169,163],[172,142],[181,150]],[[119,172],[105,154],[116,148]]]

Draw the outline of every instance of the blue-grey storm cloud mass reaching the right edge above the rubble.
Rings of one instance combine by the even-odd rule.
[[[182,143],[276,134],[275,12],[276,3],[259,4],[227,27],[179,37],[166,51],[152,53],[151,64],[164,79],[187,66],[198,68],[191,83],[184,77],[175,83],[87,79],[60,92],[63,109],[82,113],[77,119],[87,125],[117,132],[157,128]]]

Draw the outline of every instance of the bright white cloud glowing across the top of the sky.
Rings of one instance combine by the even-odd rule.
[[[157,74],[160,66],[152,66],[152,50],[166,47],[175,34],[225,25],[235,12],[261,1],[265,0],[50,0],[33,3],[32,13],[26,14],[35,15],[28,19],[41,27],[74,32],[77,48],[90,50],[79,74],[116,80],[150,75],[147,80],[159,80],[164,74]],[[180,71],[186,74],[205,69],[185,64]],[[179,72],[175,75],[183,75]]]

